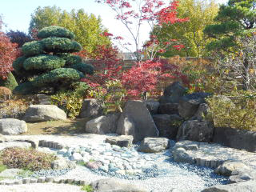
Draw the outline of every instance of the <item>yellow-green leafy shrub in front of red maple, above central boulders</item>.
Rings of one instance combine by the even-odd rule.
[[[126,90],[119,80],[107,81],[106,90],[101,86],[88,91],[90,98],[96,98],[102,101],[102,107],[105,114],[110,112],[122,112],[124,106],[124,97]]]

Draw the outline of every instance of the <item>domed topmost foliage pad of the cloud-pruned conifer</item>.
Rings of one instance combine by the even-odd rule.
[[[74,33],[62,26],[48,26],[38,31],[38,38],[50,37],[74,39]]]

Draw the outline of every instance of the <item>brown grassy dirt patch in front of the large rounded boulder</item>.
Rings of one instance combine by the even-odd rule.
[[[82,134],[89,119],[67,119],[65,121],[27,123],[26,134]]]

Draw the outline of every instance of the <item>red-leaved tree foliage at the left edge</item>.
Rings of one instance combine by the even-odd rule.
[[[18,57],[18,45],[10,42],[6,34],[0,32],[0,78],[6,79],[13,70],[12,63]]]

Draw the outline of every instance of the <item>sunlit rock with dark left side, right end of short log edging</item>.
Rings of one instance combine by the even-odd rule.
[[[215,170],[215,174],[221,174],[224,176],[230,176],[232,172],[238,171],[240,173],[246,172],[246,170],[250,170],[249,166],[246,166],[242,162],[234,162],[234,161],[228,161],[223,162],[222,165],[218,166]]]

